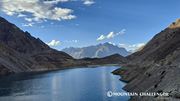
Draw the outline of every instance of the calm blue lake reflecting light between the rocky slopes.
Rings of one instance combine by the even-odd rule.
[[[0,77],[0,101],[127,101],[126,83],[111,72],[118,66],[21,73]]]

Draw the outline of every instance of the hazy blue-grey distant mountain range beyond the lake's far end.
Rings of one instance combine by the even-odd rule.
[[[131,52],[128,52],[125,48],[115,46],[108,42],[104,44],[98,44],[95,46],[88,46],[83,48],[70,47],[63,49],[62,51],[66,52],[67,54],[71,55],[76,59],[86,58],[86,57],[102,58],[116,53],[122,56],[127,56],[128,54],[131,54]]]

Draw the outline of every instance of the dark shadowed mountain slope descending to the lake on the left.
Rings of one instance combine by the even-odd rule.
[[[60,69],[74,59],[0,17],[0,74]]]

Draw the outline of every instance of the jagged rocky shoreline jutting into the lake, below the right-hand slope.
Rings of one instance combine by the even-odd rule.
[[[129,101],[179,101],[180,68],[176,66],[150,65],[147,68],[128,65],[112,73],[121,76],[128,84],[123,87],[127,92],[166,92],[169,96],[134,96]],[[140,70],[142,69],[142,70]]]

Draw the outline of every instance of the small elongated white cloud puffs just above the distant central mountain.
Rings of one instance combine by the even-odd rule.
[[[99,38],[97,38],[97,40],[103,40],[105,38],[107,38],[107,39],[114,38],[114,37],[116,37],[118,35],[124,34],[125,31],[126,31],[126,29],[123,29],[123,30],[121,30],[120,32],[118,32],[116,34],[114,34],[114,32],[110,32],[107,36],[101,35]]]

